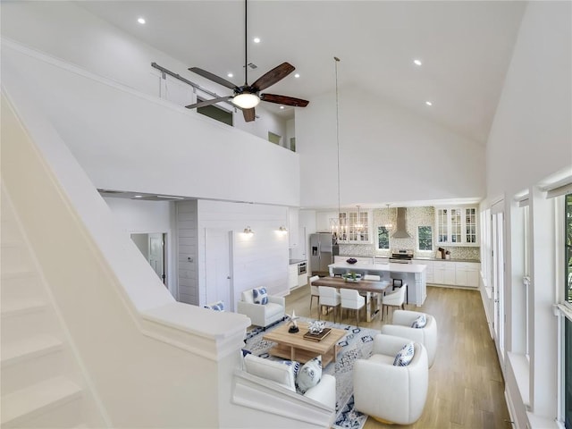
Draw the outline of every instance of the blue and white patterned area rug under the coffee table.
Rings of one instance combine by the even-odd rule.
[[[300,322],[313,322],[315,319],[300,317]],[[266,332],[285,322],[279,322],[266,328]],[[336,421],[334,428],[361,429],[366,423],[367,416],[354,409],[354,386],[353,367],[356,359],[371,356],[374,336],[379,333],[374,329],[358,328],[350,324],[333,324],[326,322],[326,327],[343,329],[348,333],[338,344],[341,350],[338,353],[337,362],[332,362],[323,369],[324,374],[332,374],[336,377]],[[274,360],[283,360],[281,357],[273,357],[268,350],[274,346],[272,341],[265,341],[262,336],[265,332],[262,328],[255,328],[247,333],[245,349],[251,353]]]

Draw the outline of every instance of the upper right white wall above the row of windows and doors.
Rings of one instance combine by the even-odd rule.
[[[526,8],[487,144],[487,196],[514,194],[572,165],[569,2]]]

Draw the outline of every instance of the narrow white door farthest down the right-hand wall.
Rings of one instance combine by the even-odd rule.
[[[495,344],[501,365],[504,363],[504,202],[492,206],[492,298]]]

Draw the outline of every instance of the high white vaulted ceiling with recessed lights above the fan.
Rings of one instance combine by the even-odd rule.
[[[188,67],[244,82],[241,0],[78,4]],[[263,92],[311,103],[334,90],[337,56],[341,91],[364,88],[484,145],[525,6],[520,1],[249,1],[248,63],[257,69],[248,71],[248,83],[287,61],[299,78],[292,73]],[[139,17],[147,22],[139,24]],[[229,72],[234,77],[228,78]],[[218,94],[230,93],[215,87]]]

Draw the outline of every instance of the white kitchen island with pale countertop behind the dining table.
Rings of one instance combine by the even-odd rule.
[[[398,274],[404,283],[408,284],[408,304],[415,304],[420,307],[427,297],[427,283],[425,265],[421,264],[372,264],[359,262],[348,264],[347,262],[337,262],[328,265],[330,275],[335,273],[361,273],[374,274],[382,277],[382,280],[393,278],[393,273]],[[397,276],[396,276],[397,277]]]

